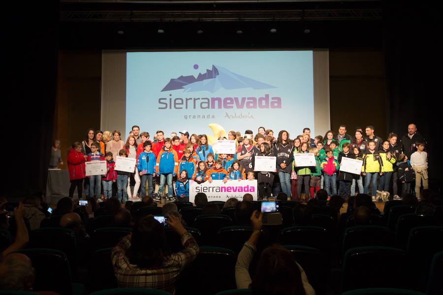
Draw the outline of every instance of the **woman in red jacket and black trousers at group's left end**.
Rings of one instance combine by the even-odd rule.
[[[67,157],[69,180],[71,181],[69,198],[71,199],[74,196],[75,187],[77,187],[78,199],[80,200],[82,198],[82,184],[83,179],[86,177],[85,161],[86,155],[82,153],[82,144],[79,142],[73,143]]]

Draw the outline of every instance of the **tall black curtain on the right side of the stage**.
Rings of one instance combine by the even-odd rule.
[[[443,177],[442,8],[439,1],[383,1],[387,130],[401,138],[409,123],[417,125],[435,188]]]

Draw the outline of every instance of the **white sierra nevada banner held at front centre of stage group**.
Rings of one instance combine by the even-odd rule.
[[[190,180],[190,202],[194,203],[197,193],[204,193],[208,201],[223,202],[230,198],[242,201],[243,195],[249,193],[253,196],[253,200],[257,201],[257,180],[228,180],[226,183],[223,183],[223,180],[213,180],[212,183],[205,181],[200,184]]]

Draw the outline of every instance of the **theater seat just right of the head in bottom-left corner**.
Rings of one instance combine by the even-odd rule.
[[[85,286],[72,283],[69,262],[63,252],[54,249],[23,249],[17,251],[28,256],[35,270],[33,291],[53,291],[59,294],[81,295]]]

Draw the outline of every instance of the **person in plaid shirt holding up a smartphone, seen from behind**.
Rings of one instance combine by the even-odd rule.
[[[165,222],[181,236],[183,250],[169,253],[164,227],[152,215],[134,224],[133,231],[112,250],[111,261],[119,288],[138,287],[175,293],[175,282],[199,252],[195,239],[172,214]]]

